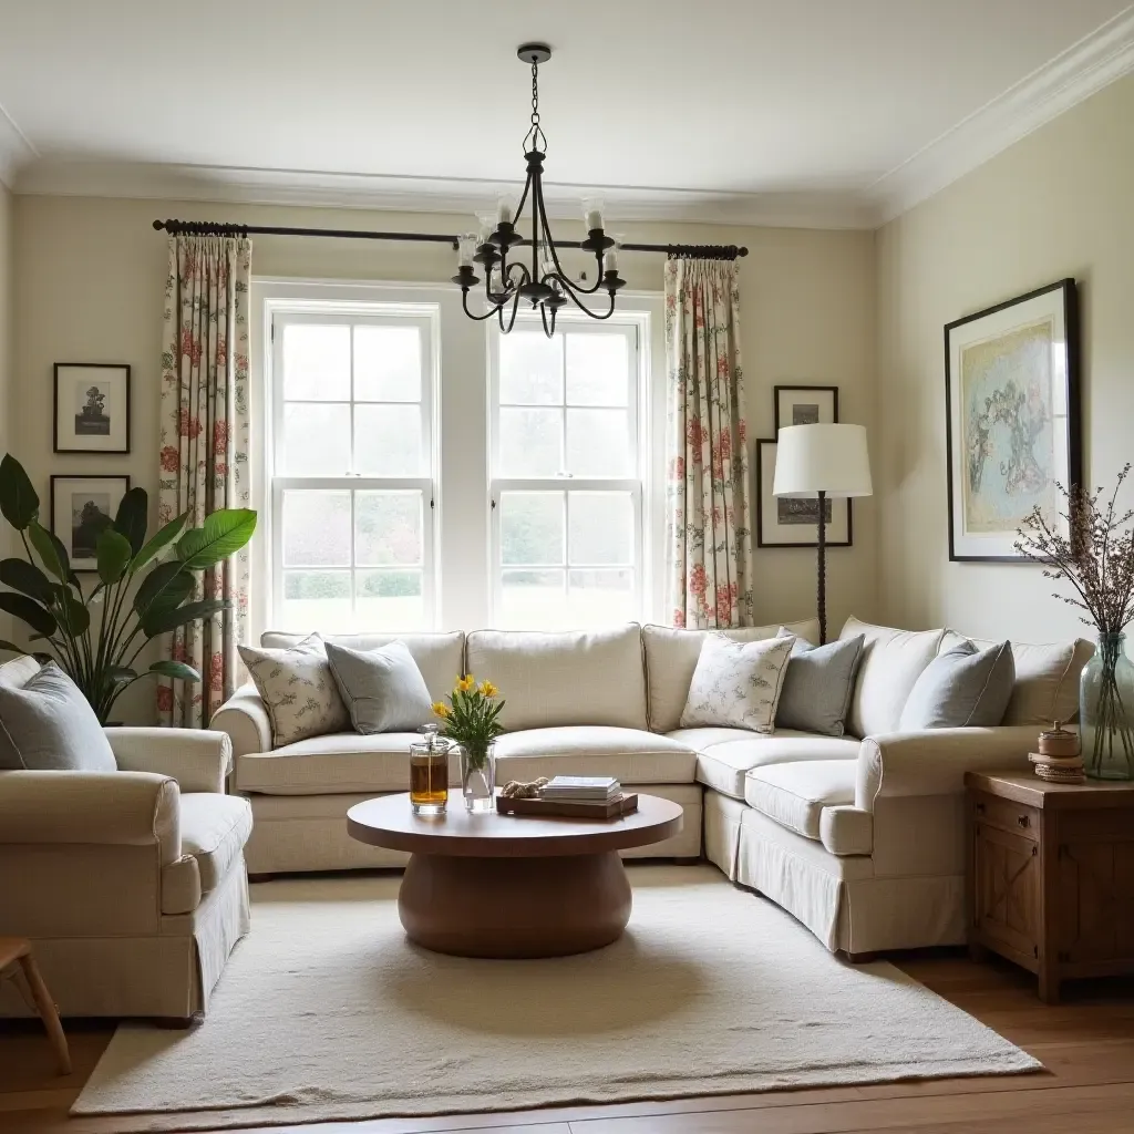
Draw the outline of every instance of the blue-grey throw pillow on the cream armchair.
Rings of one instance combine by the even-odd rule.
[[[0,769],[118,770],[94,710],[53,661],[20,686],[0,683]]]

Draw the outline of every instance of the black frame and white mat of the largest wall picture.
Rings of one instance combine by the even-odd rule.
[[[1006,313],[1008,314],[1006,315]],[[1033,561],[1015,551],[1013,547],[1017,539],[1015,527],[1012,530],[1005,527],[1000,531],[989,531],[981,534],[972,534],[968,531],[965,489],[971,491],[971,480],[974,472],[972,467],[965,469],[962,465],[970,454],[958,452],[956,448],[965,443],[962,422],[962,414],[965,409],[963,405],[965,391],[962,389],[964,384],[963,367],[955,367],[955,362],[963,359],[966,344],[970,346],[995,344],[1008,336],[1023,333],[1029,327],[1036,327],[1046,319],[1051,321],[1051,347],[1046,352],[1041,349],[1039,357],[1050,357],[1053,366],[1049,399],[1052,407],[1053,467],[1048,474],[1047,483],[1052,484],[1056,480],[1068,486],[1083,483],[1080,313],[1078,288],[1074,278],[1067,277],[1057,280],[1055,284],[1036,288],[1033,291],[946,323],[946,486],[949,515],[949,560],[951,562],[1029,564]],[[1061,336],[1061,349],[1056,347],[1059,336]],[[956,373],[956,370],[960,370],[962,373]],[[1022,398],[1021,408],[1030,400],[1023,393]],[[985,405],[989,404],[989,399],[985,399]],[[1063,413],[1058,414],[1060,406]],[[993,421],[1000,423],[1001,418],[993,417]],[[992,426],[990,425],[985,437],[990,437],[991,432]],[[983,450],[983,446],[981,448]],[[981,469],[985,467],[987,456],[985,454],[981,459]],[[1034,458],[1032,463],[1042,474],[1042,469]],[[999,464],[993,467],[999,467]],[[958,480],[966,472],[970,482],[958,485]],[[983,472],[978,472],[976,477],[979,483],[983,479]],[[1021,508],[1030,510],[1026,503],[1022,503]],[[1018,518],[1022,522],[1023,517]]]

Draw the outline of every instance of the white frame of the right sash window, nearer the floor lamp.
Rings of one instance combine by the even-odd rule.
[[[634,454],[634,471],[632,476],[599,477],[573,476],[561,472],[550,476],[513,477],[502,476],[500,468],[500,340],[499,327],[489,324],[489,494],[491,498],[491,536],[490,536],[490,570],[491,570],[491,612],[492,625],[502,625],[503,617],[503,572],[507,570],[562,570],[565,573],[564,599],[570,590],[572,570],[619,570],[628,566],[634,575],[632,595],[632,619],[641,621],[646,616],[652,581],[646,577],[646,525],[648,496],[651,481],[651,430],[650,430],[650,314],[643,310],[619,312],[610,321],[596,322],[584,314],[567,314],[562,311],[556,321],[557,333],[560,330],[584,331],[593,335],[618,335],[626,339],[627,355],[631,359],[629,373],[634,383],[632,396],[627,403],[629,416],[629,433]],[[542,324],[536,316],[521,314],[516,320],[516,329],[540,330]],[[551,408],[551,407],[548,407]],[[586,408],[586,407],[583,407]],[[610,407],[595,407],[610,408]],[[564,390],[564,459],[567,455],[567,401]],[[502,492],[548,492],[558,490],[564,493],[564,561],[560,564],[516,564],[505,565],[502,561],[500,532],[500,497]],[[632,562],[629,565],[611,564],[572,564],[570,562],[570,501],[569,492],[628,492],[634,509],[634,538],[632,540]]]

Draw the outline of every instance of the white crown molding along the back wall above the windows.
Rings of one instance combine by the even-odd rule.
[[[145,164],[41,159],[20,170],[20,194],[307,205],[472,215],[494,210],[515,185],[472,179],[386,177],[215,166]],[[723,193],[701,189],[545,183],[548,214],[579,215],[579,201],[601,196],[612,225],[679,221],[776,228],[872,228],[870,203],[857,194]]]

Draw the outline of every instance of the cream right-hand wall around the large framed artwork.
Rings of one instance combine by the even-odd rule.
[[[948,560],[943,324],[1073,276],[1084,468],[1134,459],[1134,78],[1107,87],[878,234],[881,615],[1022,641],[1084,633],[1040,568]],[[1134,492],[1128,503],[1134,503]]]

